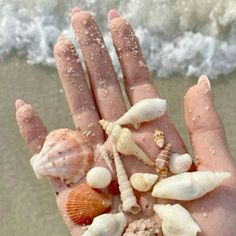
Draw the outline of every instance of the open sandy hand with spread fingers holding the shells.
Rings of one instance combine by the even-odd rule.
[[[130,25],[114,10],[109,12],[108,21],[129,102],[132,105],[144,98],[157,97],[157,90]],[[90,147],[95,150],[97,144],[105,141],[98,121],[114,121],[125,112],[126,107],[111,59],[93,17],[88,12],[74,8],[72,27],[83,54],[91,91],[78,55],[67,39],[59,37],[54,54],[75,128],[88,134]],[[205,76],[200,77],[198,83],[185,95],[184,109],[186,127],[199,163],[197,168],[232,173],[232,177],[212,193],[185,203],[184,206],[200,225],[202,233],[199,235],[236,235],[236,170],[227,148],[224,129],[211,100],[210,83]],[[47,130],[37,113],[30,105],[17,100],[16,118],[30,150],[33,153],[39,152]],[[150,158],[155,159],[159,151],[152,142],[152,134],[157,127],[165,133],[174,152],[186,152],[181,137],[165,114],[152,122],[142,124],[137,131],[132,130],[137,144]],[[135,158],[127,157],[123,161],[128,172],[141,168],[136,166],[139,161]],[[133,166],[136,167],[131,168]],[[71,187],[54,178],[49,181],[69,230],[74,236],[80,235],[81,227],[74,225],[65,216],[65,200]]]

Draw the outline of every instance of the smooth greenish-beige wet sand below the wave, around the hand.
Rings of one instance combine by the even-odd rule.
[[[215,106],[225,125],[226,136],[236,162],[236,72],[212,80]],[[36,180],[29,164],[31,157],[15,121],[17,98],[31,103],[48,130],[72,128],[63,90],[53,68],[30,66],[25,60],[9,57],[0,61],[0,235],[70,235],[59,217],[47,181]],[[168,112],[189,150],[183,121],[183,96],[196,78],[172,76],[155,79],[161,96],[168,100]]]

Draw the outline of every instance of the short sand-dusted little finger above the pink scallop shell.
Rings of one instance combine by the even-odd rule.
[[[46,127],[31,105],[17,100],[15,107],[16,120],[23,139],[33,153],[39,152],[47,136]]]

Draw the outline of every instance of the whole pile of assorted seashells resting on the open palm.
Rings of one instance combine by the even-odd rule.
[[[159,129],[153,132],[153,143],[160,150],[153,161],[136,144],[131,130],[143,122],[161,117],[166,111],[166,100],[144,99],[132,106],[114,123],[101,120],[100,124],[113,142],[112,158],[104,145],[97,150],[104,166],[92,166],[92,151],[79,131],[60,129],[51,132],[41,152],[30,161],[37,178],[59,178],[66,183],[77,183],[70,189],[66,201],[67,215],[75,224],[89,225],[84,236],[132,235],[196,235],[201,231],[190,213],[180,204],[155,204],[154,212],[161,219],[161,229],[151,219],[139,219],[128,224],[127,216],[142,213],[135,193],[154,198],[180,201],[198,199],[218,187],[230,177],[228,172],[187,172],[192,166],[188,153],[172,152],[172,145]],[[123,156],[132,155],[141,165],[153,168],[152,173],[126,171]],[[154,174],[154,172],[156,172]],[[81,179],[81,183],[79,182]],[[109,213],[112,196],[120,195],[119,213]]]

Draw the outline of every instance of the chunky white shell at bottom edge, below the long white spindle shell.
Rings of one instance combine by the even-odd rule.
[[[181,205],[156,204],[153,208],[162,221],[165,236],[196,236],[201,232],[190,213]]]

